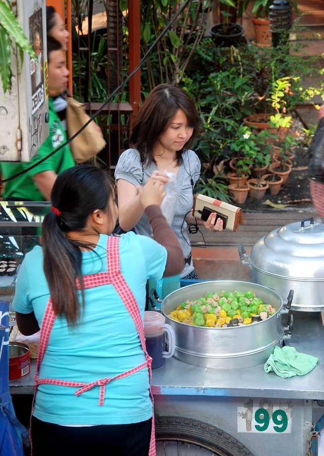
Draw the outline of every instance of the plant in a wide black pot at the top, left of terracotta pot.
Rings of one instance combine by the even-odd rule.
[[[210,27],[209,31],[216,46],[237,46],[244,33],[244,27],[236,21],[242,15],[241,0],[220,0],[221,22]]]

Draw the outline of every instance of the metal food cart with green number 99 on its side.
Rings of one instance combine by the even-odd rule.
[[[317,454],[324,414],[321,311],[291,314],[294,328],[286,345],[319,359],[304,376],[281,378],[266,373],[263,363],[218,369],[174,357],[153,370],[158,456]],[[11,394],[32,394],[34,373],[31,360],[30,374],[10,382]]]

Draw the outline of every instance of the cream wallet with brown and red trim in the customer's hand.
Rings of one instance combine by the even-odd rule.
[[[211,212],[215,212],[223,219],[223,226],[226,230],[236,232],[239,224],[243,225],[243,211],[240,207],[197,193],[194,199],[194,217],[207,220]],[[216,220],[218,216],[216,216]]]

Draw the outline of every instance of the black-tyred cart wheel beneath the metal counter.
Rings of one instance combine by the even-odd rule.
[[[155,432],[157,456],[253,456],[221,429],[183,416],[156,417]]]

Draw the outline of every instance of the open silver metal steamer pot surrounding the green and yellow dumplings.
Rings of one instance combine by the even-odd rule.
[[[168,317],[181,302],[198,299],[210,291],[222,290],[252,290],[266,304],[277,309],[277,312],[257,323],[227,328],[192,326]],[[292,315],[289,315],[286,327],[282,324],[282,314],[288,314],[289,308],[290,302],[283,305],[282,298],[269,288],[255,283],[230,280],[213,280],[180,288],[166,296],[161,305],[161,311],[175,333],[173,356],[195,366],[220,369],[263,364],[273,353],[274,347],[282,346],[283,340],[291,336]]]

